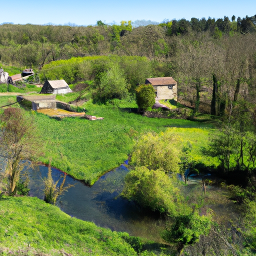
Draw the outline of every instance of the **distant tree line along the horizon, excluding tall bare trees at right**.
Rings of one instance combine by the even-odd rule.
[[[255,16],[164,20],[132,28],[131,21],[95,26],[0,25],[0,61],[39,69],[52,60],[90,55],[138,55],[164,59],[175,53],[173,36],[208,33],[212,39],[253,33]]]

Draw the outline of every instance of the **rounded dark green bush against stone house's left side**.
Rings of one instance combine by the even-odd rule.
[[[155,103],[154,88],[151,84],[141,84],[135,89],[138,111],[146,110]]]

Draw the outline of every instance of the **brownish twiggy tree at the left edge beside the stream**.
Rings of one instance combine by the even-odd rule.
[[[6,161],[9,194],[14,195],[20,172],[30,163],[26,159],[38,152],[40,144],[33,119],[20,108],[8,107],[0,115],[0,154]]]

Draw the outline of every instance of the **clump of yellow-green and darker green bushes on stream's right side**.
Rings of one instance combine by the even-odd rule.
[[[144,208],[165,213],[169,222],[163,237],[166,241],[175,243],[180,253],[185,245],[195,243],[200,235],[209,231],[211,218],[200,216],[195,210],[196,206],[192,209],[180,194],[179,184],[175,182],[175,172],[179,170],[181,154],[175,150],[178,142],[173,141],[173,137],[167,130],[159,137],[148,133],[137,142],[131,157],[136,167],[126,175],[121,194]],[[185,160],[188,158],[183,159]],[[166,162],[170,163],[170,167]],[[177,170],[173,165],[176,165]],[[152,167],[158,169],[153,170]],[[162,170],[168,170],[171,175]]]

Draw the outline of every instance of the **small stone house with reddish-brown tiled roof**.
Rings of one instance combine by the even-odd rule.
[[[155,101],[160,99],[177,100],[177,82],[172,77],[147,78],[145,84],[153,85]]]

